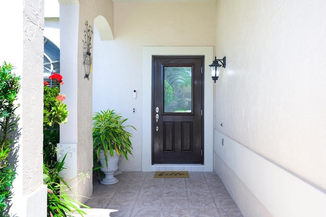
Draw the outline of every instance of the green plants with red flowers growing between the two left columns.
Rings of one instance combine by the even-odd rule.
[[[65,95],[60,94],[60,85],[64,84],[60,74],[53,73],[49,79],[51,84],[44,81],[43,109],[43,180],[47,185],[47,216],[73,216],[73,213],[86,214],[79,206],[90,208],[72,199],[68,194],[71,189],[60,176],[65,169],[66,156],[57,161],[57,144],[60,138],[60,125],[67,122],[67,105],[62,101]]]

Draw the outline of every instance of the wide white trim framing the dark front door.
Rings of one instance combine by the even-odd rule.
[[[212,46],[144,46],[143,47],[143,108],[142,108],[142,171],[155,171],[152,165],[152,55],[203,55],[204,56],[204,165],[189,171],[213,171],[213,84],[209,64],[213,55]],[[169,165],[166,165],[166,168]],[[185,167],[192,167],[186,165]],[[180,165],[178,166],[178,169]]]

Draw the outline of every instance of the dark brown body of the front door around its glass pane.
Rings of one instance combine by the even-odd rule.
[[[204,75],[201,73],[201,69],[204,68],[204,59],[205,57],[203,55],[152,56],[152,164],[153,162],[165,162],[154,164],[156,167],[161,167],[162,164],[173,164],[167,163],[169,161],[174,161],[177,165],[181,164],[185,166],[202,166],[204,163],[204,114],[201,113],[204,109]],[[191,68],[192,106],[191,112],[189,113],[164,111],[165,67],[167,66]],[[160,111],[155,111],[156,108],[160,108]],[[159,115],[158,122],[155,121],[156,114]],[[158,126],[158,131],[155,130],[156,126]],[[185,133],[184,136],[187,136],[183,137],[182,131]],[[168,142],[165,142],[165,136],[170,138],[167,140]],[[188,142],[182,142],[183,139]],[[168,145],[171,149],[165,151],[165,145]],[[183,150],[183,145],[188,150]]]

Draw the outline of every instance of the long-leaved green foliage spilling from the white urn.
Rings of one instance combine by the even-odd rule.
[[[107,166],[107,154],[114,156],[114,149],[119,156],[128,160],[127,154],[131,154],[132,145],[130,137],[132,134],[125,130],[131,125],[124,126],[127,118],[122,118],[121,114],[117,114],[114,110],[107,109],[94,113],[93,116],[93,148],[94,153],[99,160],[100,151],[103,150],[105,162]]]

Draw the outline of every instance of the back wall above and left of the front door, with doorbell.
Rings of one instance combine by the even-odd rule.
[[[110,107],[137,128],[130,130],[134,157],[120,159],[120,170],[142,170],[143,46],[213,46],[214,8],[212,2],[114,4],[115,40],[94,42],[93,111]]]

